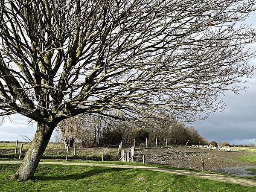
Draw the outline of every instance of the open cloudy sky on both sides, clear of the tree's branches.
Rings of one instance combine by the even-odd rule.
[[[256,13],[252,14],[246,23],[256,23]],[[256,29],[256,24],[254,24]],[[256,50],[256,45],[250,45]],[[250,65],[256,65],[256,59],[250,60]],[[256,71],[254,72],[256,73]],[[249,88],[241,91],[240,95],[226,92],[221,97],[226,109],[221,113],[212,113],[208,119],[192,123],[199,133],[207,140],[228,141],[230,144],[256,144],[256,75],[244,84]],[[0,126],[1,140],[22,140],[20,134],[33,137],[36,124],[28,125],[28,119],[18,114],[12,115],[11,120],[5,119]]]

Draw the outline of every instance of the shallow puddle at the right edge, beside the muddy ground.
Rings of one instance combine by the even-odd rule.
[[[249,172],[245,169],[256,169],[256,166],[238,166],[238,167],[225,167],[219,169],[221,172],[237,175],[237,176],[243,176],[243,177],[256,177],[255,172]]]

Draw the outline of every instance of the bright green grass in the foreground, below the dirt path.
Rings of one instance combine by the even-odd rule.
[[[1,191],[253,192],[254,187],[140,169],[39,165],[34,180],[8,180],[19,165],[0,164]]]

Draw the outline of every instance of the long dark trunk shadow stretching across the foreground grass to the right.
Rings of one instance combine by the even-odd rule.
[[[105,172],[120,172],[124,171],[123,168],[108,168],[108,169],[93,169],[84,173],[79,174],[72,174],[72,175],[60,175],[60,176],[42,176],[42,175],[36,175],[34,176],[35,180],[80,180],[87,177],[92,177],[94,175],[99,175],[101,173]]]

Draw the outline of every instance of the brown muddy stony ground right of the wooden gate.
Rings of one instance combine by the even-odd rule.
[[[136,151],[137,156],[145,155],[145,163],[157,163],[188,169],[214,172],[225,172],[230,167],[256,167],[256,163],[241,162],[240,155],[248,154],[248,151],[219,151],[207,148],[152,148]]]

